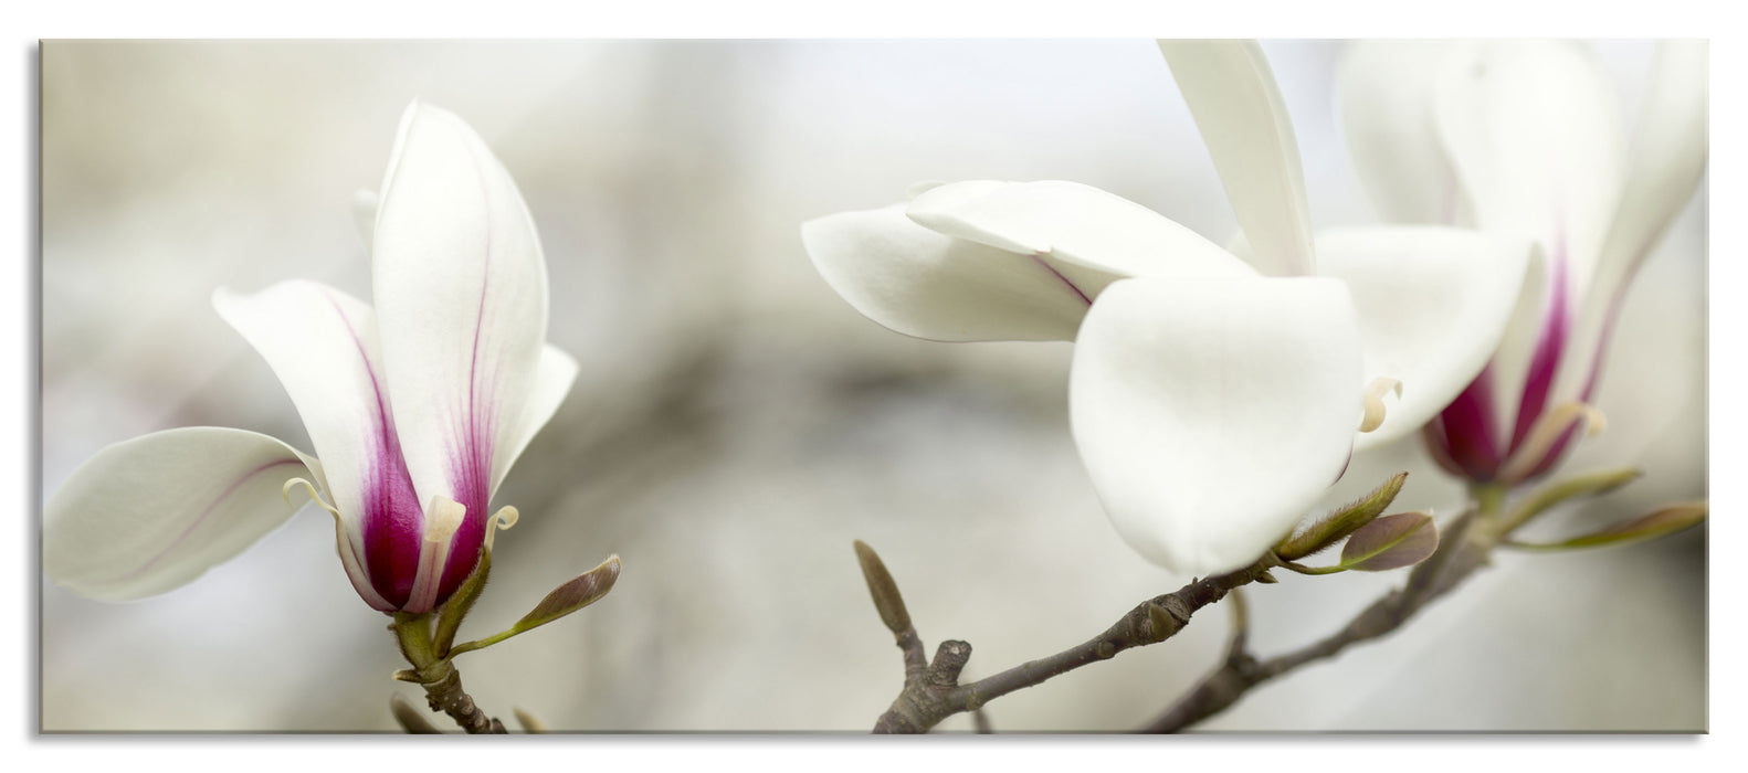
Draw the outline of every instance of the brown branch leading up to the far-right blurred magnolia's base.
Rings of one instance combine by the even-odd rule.
[[[1395,631],[1423,607],[1444,596],[1451,588],[1456,588],[1470,574],[1484,567],[1496,540],[1498,533],[1477,525],[1474,511],[1465,512],[1451,525],[1439,551],[1419,567],[1414,567],[1404,588],[1393,589],[1377,602],[1372,602],[1372,605],[1365,607],[1328,638],[1280,658],[1257,661],[1246,651],[1243,628],[1239,628],[1220,666],[1208,677],[1203,677],[1190,693],[1173,703],[1171,708],[1154,719],[1143,731],[1182,731],[1224,712],[1248,691],[1271,679],[1290,673],[1308,663],[1334,658],[1355,644],[1370,642]]]

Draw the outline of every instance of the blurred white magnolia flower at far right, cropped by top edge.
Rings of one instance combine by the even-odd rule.
[[[1367,42],[1341,70],[1360,178],[1393,220],[1535,240],[1498,355],[1426,427],[1474,481],[1547,472],[1596,420],[1626,289],[1706,166],[1706,42],[1657,44],[1631,152],[1619,96],[1575,42]]]

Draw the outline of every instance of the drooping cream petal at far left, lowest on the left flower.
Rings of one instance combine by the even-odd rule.
[[[280,486],[315,460],[273,437],[184,427],[91,456],[44,507],[42,568],[103,602],[192,582],[285,523]]]

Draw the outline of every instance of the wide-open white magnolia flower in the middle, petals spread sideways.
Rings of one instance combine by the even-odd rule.
[[[1356,442],[1414,432],[1474,380],[1528,247],[1425,226],[1313,241],[1262,51],[1161,49],[1252,262],[1072,182],[921,185],[904,205],[811,220],[802,241],[832,289],[893,331],[1075,341],[1070,420],[1112,523],[1145,558],[1213,574],[1280,540]]]

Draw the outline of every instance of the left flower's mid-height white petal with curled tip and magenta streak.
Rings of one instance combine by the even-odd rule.
[[[353,544],[364,544],[367,488],[388,511],[393,477],[404,476],[395,416],[383,385],[376,315],[364,301],[318,282],[288,280],[252,296],[213,290],[213,308],[248,341],[280,378],[304,420],[309,442],[323,460],[322,486],[346,523]],[[404,490],[404,488],[402,488]]]

